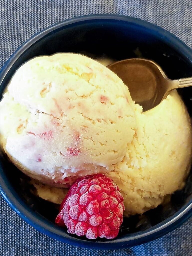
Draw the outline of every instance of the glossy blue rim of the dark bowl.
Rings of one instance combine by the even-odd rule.
[[[130,23],[135,26],[145,27],[147,30],[150,30],[151,33],[155,33],[161,37],[167,44],[170,44],[176,50],[182,51],[182,55],[185,56],[192,65],[192,50],[180,39],[178,39],[173,34],[164,30],[161,27],[158,27],[152,23],[146,22],[144,20],[133,18],[124,15],[111,15],[111,14],[98,14],[98,15],[85,15],[80,17],[75,17],[72,19],[64,20],[60,23],[54,24],[39,33],[35,34],[33,37],[28,39],[22,46],[20,46],[12,56],[5,62],[4,66],[0,71],[0,86],[2,81],[4,80],[6,74],[12,67],[13,63],[17,61],[17,59],[28,49],[31,45],[33,45],[36,41],[40,40],[42,37],[48,35],[50,32],[58,28],[65,28],[65,26],[91,21],[91,20],[102,20],[104,21],[124,21]],[[0,170],[2,166],[0,166]],[[18,196],[16,191],[9,188],[11,187],[9,180],[6,178],[5,174],[0,171],[0,192],[9,206],[28,224],[37,229],[38,231],[57,239],[59,241],[72,244],[79,247],[87,247],[91,249],[123,249],[131,246],[136,246],[145,242],[152,241],[157,239],[168,232],[176,229],[182,223],[184,223],[191,215],[192,215],[192,199],[188,201],[183,207],[181,207],[173,216],[168,217],[166,220],[158,223],[157,225],[146,229],[144,231],[138,231],[133,234],[127,234],[126,237],[116,238],[114,240],[108,241],[88,241],[81,240],[77,237],[73,237],[68,233],[63,232],[62,228],[57,227],[51,221],[48,221],[40,214],[37,214],[34,210],[27,207],[26,203]]]

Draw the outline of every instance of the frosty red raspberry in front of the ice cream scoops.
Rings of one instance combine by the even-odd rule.
[[[104,174],[96,174],[79,178],[71,186],[55,222],[77,236],[113,239],[119,233],[124,209],[118,186]]]

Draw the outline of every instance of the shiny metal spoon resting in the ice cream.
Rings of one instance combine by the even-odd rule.
[[[192,77],[170,80],[157,63],[147,59],[121,60],[107,67],[123,80],[143,112],[157,106],[170,91],[192,86]]]

